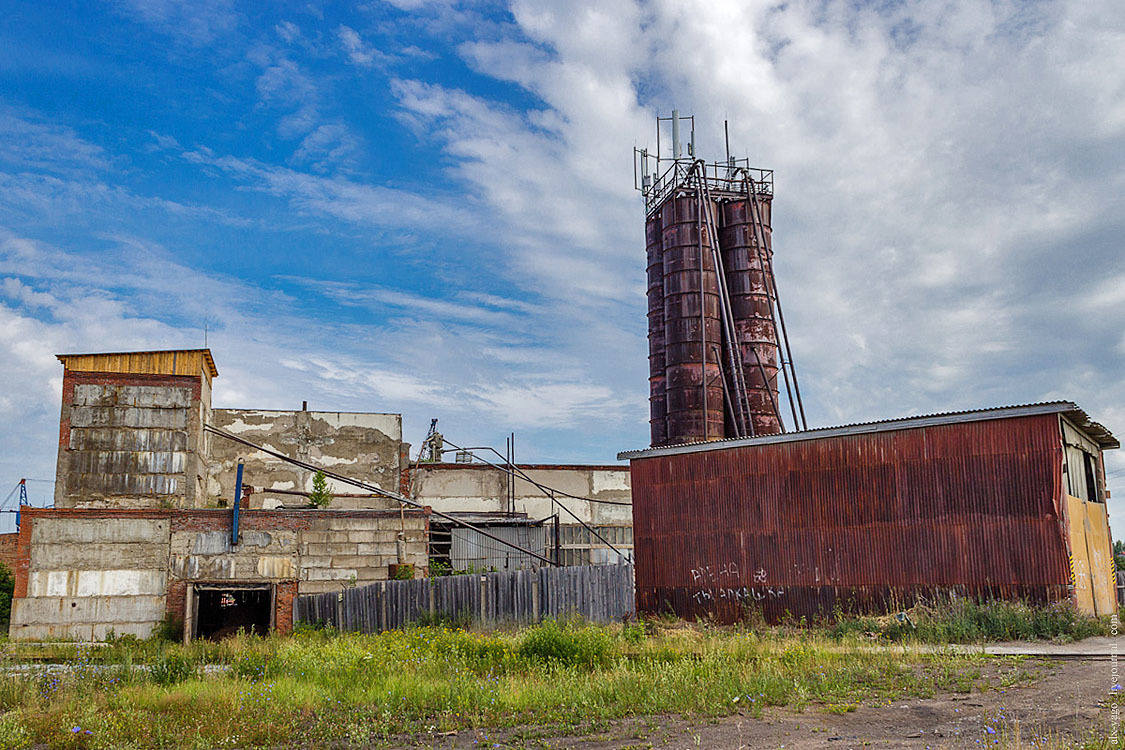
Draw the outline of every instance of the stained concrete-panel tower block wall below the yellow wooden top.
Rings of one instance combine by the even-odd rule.
[[[202,488],[200,374],[63,373],[55,507],[190,507]]]

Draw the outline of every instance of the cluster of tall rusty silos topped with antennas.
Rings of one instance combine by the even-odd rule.
[[[731,156],[729,137],[726,152],[698,159],[695,118],[676,110],[657,117],[655,152],[633,150],[652,445],[785,432],[778,373],[794,428],[808,427],[773,273],[773,170]]]

